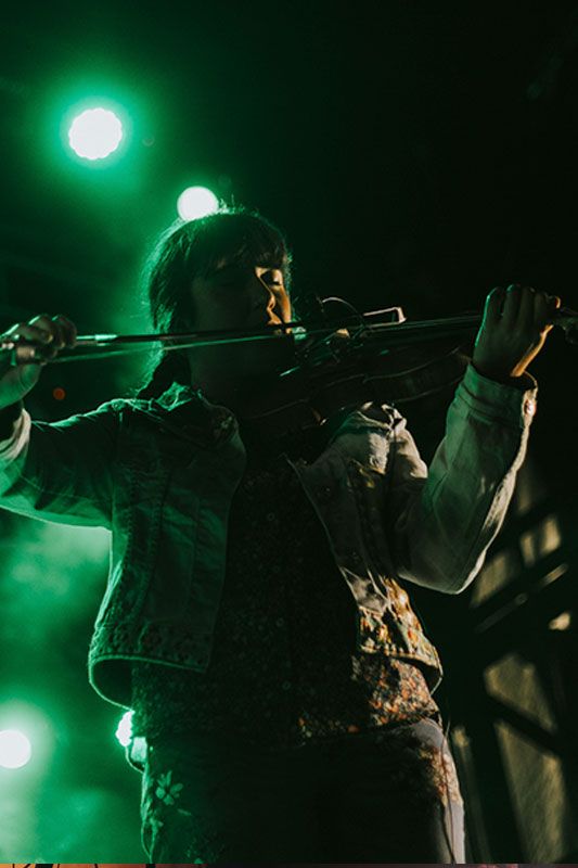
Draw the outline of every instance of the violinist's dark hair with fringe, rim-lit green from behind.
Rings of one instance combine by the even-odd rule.
[[[222,260],[245,259],[280,268],[291,288],[291,252],[282,232],[257,212],[221,208],[196,220],[178,220],[163,232],[146,260],[143,290],[155,331],[185,332],[194,328],[191,281],[209,273]],[[159,397],[172,383],[190,383],[187,356],[162,352],[152,360],[139,398]]]

